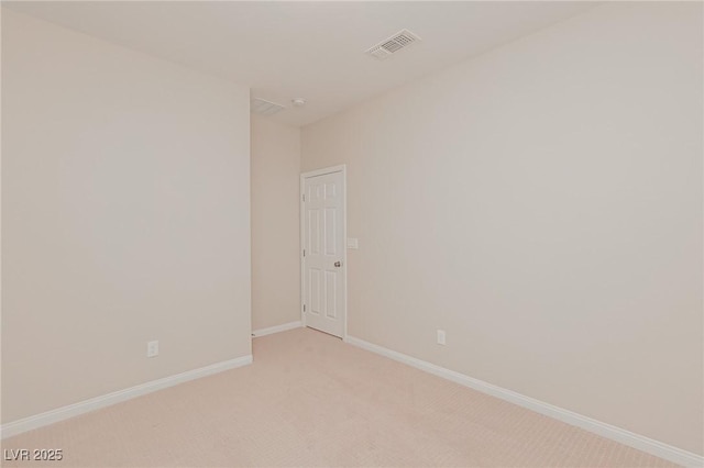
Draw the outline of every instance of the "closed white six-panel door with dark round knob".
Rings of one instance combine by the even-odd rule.
[[[342,337],[345,324],[344,172],[302,175],[304,323]]]

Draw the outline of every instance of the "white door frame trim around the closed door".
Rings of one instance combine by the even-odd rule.
[[[306,268],[304,259],[304,248],[306,246],[306,207],[304,202],[304,194],[306,193],[306,179],[324,176],[326,174],[341,172],[342,174],[342,210],[344,211],[342,216],[342,269],[344,272],[344,281],[342,281],[342,314],[344,315],[342,321],[342,341],[348,338],[348,166],[341,164],[338,166],[324,167],[322,169],[316,169],[308,172],[301,172],[300,175],[300,188],[298,193],[298,203],[300,212],[300,245],[298,250],[298,257],[300,261],[300,323],[306,325],[306,313],[304,312],[304,300],[306,298]]]

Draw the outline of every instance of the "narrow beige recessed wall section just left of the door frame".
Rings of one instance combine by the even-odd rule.
[[[300,130],[252,116],[252,328],[300,320]]]

